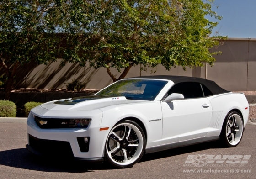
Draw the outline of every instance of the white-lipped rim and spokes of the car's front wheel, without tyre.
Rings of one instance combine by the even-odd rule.
[[[134,153],[134,155],[130,158],[130,159],[128,159],[127,158],[127,156],[125,155],[126,154],[126,150],[124,149],[124,148],[122,148],[122,146],[124,147],[124,146],[129,146],[129,145],[125,145],[125,144],[122,144],[122,143],[118,143],[117,142],[117,146],[115,146],[115,148],[114,149],[112,149],[112,150],[108,150],[108,145],[109,145],[109,140],[110,140],[110,135],[112,134],[112,132],[117,128],[117,127],[119,127],[119,126],[128,126],[128,127],[131,127],[132,129],[133,129],[133,131],[136,133],[136,135],[137,135],[137,137],[138,137],[138,140],[139,140],[139,142],[138,142],[138,147],[137,147],[137,149],[136,149],[136,152]],[[128,135],[130,135],[130,132],[128,132]],[[128,136],[127,135],[127,136]],[[125,137],[125,136],[123,136],[122,138],[120,138],[119,137],[119,140],[121,139],[122,141],[126,141],[126,140],[123,140],[124,138],[128,138],[128,137]],[[133,144],[132,144],[133,145]],[[136,144],[137,145],[137,144]],[[112,130],[109,132],[109,134],[108,134],[108,137],[107,137],[107,142],[106,142],[106,154],[108,155],[108,158],[113,162],[113,163],[116,163],[117,165],[121,165],[121,166],[126,166],[126,165],[129,165],[129,164],[131,164],[131,163],[134,163],[134,162],[136,162],[137,161],[137,159],[140,157],[140,154],[143,152],[143,146],[144,146],[144,139],[143,139],[143,135],[142,135],[142,133],[141,133],[141,131],[139,130],[139,128],[138,127],[136,127],[135,125],[133,125],[133,124],[131,124],[131,123],[127,123],[127,122],[125,122],[125,123],[120,123],[120,124],[118,124],[117,126],[114,126],[113,128],[112,128]],[[111,151],[114,151],[116,148],[121,148],[121,151],[122,151],[122,153],[124,154],[124,160],[126,160],[126,162],[123,162],[123,161],[116,161],[115,159],[113,159],[112,158],[112,153],[113,152],[111,152]]]

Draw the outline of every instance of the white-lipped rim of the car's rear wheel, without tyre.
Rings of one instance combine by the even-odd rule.
[[[243,121],[238,114],[233,114],[229,117],[226,125],[226,138],[230,145],[237,145],[243,135]]]

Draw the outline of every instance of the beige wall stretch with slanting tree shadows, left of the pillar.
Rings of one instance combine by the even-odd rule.
[[[32,67],[29,67],[31,70],[27,69],[28,72],[24,73],[27,74],[27,77],[24,75],[18,76],[19,80],[16,86],[20,88],[25,88],[25,86],[27,86],[27,88],[62,89],[66,88],[66,83],[71,82],[72,79],[79,79],[86,84],[85,87],[88,89],[102,89],[112,83],[112,79],[107,74],[106,68],[93,69],[90,67],[80,67],[79,64],[71,63],[62,66],[60,62],[61,59],[48,65],[32,65]],[[150,73],[151,70],[156,72]],[[120,74],[117,70],[111,68],[111,71],[118,78]],[[140,71],[140,66],[135,66],[131,68],[126,78],[148,75],[192,76],[192,71],[193,70],[190,68],[188,68],[187,71],[184,71],[181,67],[172,68],[171,71],[166,71],[165,68],[160,65],[157,68],[148,69],[147,72],[145,72]],[[24,83],[24,81],[26,83]]]

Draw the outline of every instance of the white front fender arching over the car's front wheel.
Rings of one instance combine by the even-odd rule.
[[[101,128],[109,127],[108,132],[112,129],[113,126],[117,124],[117,122],[123,120],[124,118],[134,117],[139,119],[146,129],[146,147],[152,147],[161,144],[162,110],[160,101],[109,106],[101,110],[103,111]],[[107,136],[105,137],[105,141],[107,140]]]

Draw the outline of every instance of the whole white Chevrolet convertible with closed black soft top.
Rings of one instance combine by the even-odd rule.
[[[27,118],[27,149],[35,154],[131,167],[144,153],[221,139],[241,141],[248,121],[244,94],[193,77],[119,80],[92,96],[55,100]]]

